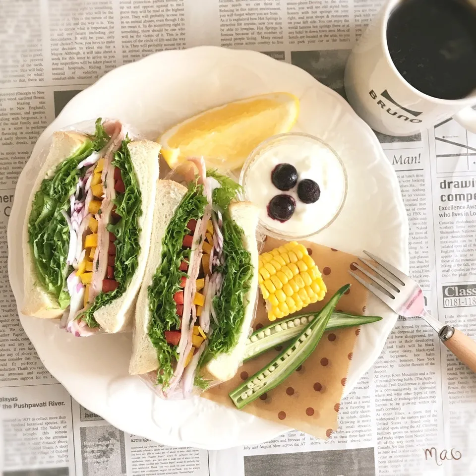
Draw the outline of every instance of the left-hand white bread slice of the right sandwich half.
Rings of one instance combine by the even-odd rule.
[[[157,182],[149,258],[135,309],[132,356],[129,362],[131,375],[147,373],[156,370],[159,366],[157,351],[149,339],[150,312],[147,289],[162,260],[162,238],[166,228],[186,192],[187,189],[175,181],[159,180]]]

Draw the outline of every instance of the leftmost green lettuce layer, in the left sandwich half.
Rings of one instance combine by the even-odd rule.
[[[81,172],[78,164],[89,157],[93,142],[86,140],[70,157],[56,168],[52,178],[44,179],[35,193],[28,219],[28,242],[35,263],[37,279],[55,297],[61,309],[69,305],[66,264],[69,229],[61,210],[68,210],[69,196],[76,190]]]

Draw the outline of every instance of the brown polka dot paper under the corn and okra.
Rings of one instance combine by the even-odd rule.
[[[274,238],[266,240],[262,252],[269,251],[283,242]],[[351,293],[339,301],[339,309],[353,314],[362,314],[367,300],[367,291],[348,274],[356,256],[302,241],[308,248],[323,274],[327,286],[324,301],[309,305],[303,311],[321,309],[343,285],[351,283]],[[324,271],[325,270],[325,271]],[[275,321],[279,323],[279,319]],[[268,321],[263,299],[259,298],[253,329],[267,326]],[[338,412],[354,345],[358,339],[356,328],[336,329],[324,333],[316,350],[278,387],[270,390],[242,409],[243,412],[286,424],[292,428],[327,439],[338,427]],[[281,347],[281,346],[280,346]],[[203,397],[227,407],[235,408],[228,393],[238,387],[248,375],[253,375],[279,354],[277,349],[243,364],[230,381],[214,387]]]

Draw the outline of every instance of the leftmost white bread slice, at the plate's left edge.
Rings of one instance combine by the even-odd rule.
[[[47,293],[43,287],[37,283],[36,267],[28,243],[28,220],[30,218],[35,193],[40,188],[41,182],[45,179],[48,172],[76,152],[86,140],[87,136],[78,132],[54,132],[50,151],[30,193],[22,234],[24,300],[21,312],[27,316],[54,319],[55,317],[60,317],[63,313],[63,310],[60,309],[58,299]]]

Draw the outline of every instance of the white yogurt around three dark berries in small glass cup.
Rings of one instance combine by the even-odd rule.
[[[278,164],[291,164],[297,170],[297,183],[291,190],[279,190],[271,181]],[[347,191],[344,168],[335,153],[320,141],[306,135],[279,136],[258,150],[252,157],[244,177],[246,198],[259,208],[261,224],[279,234],[311,235],[331,222],[340,211]],[[314,203],[303,203],[297,196],[302,179],[314,180],[320,197]],[[291,195],[296,201],[292,217],[280,222],[268,215],[270,200],[280,194]]]

